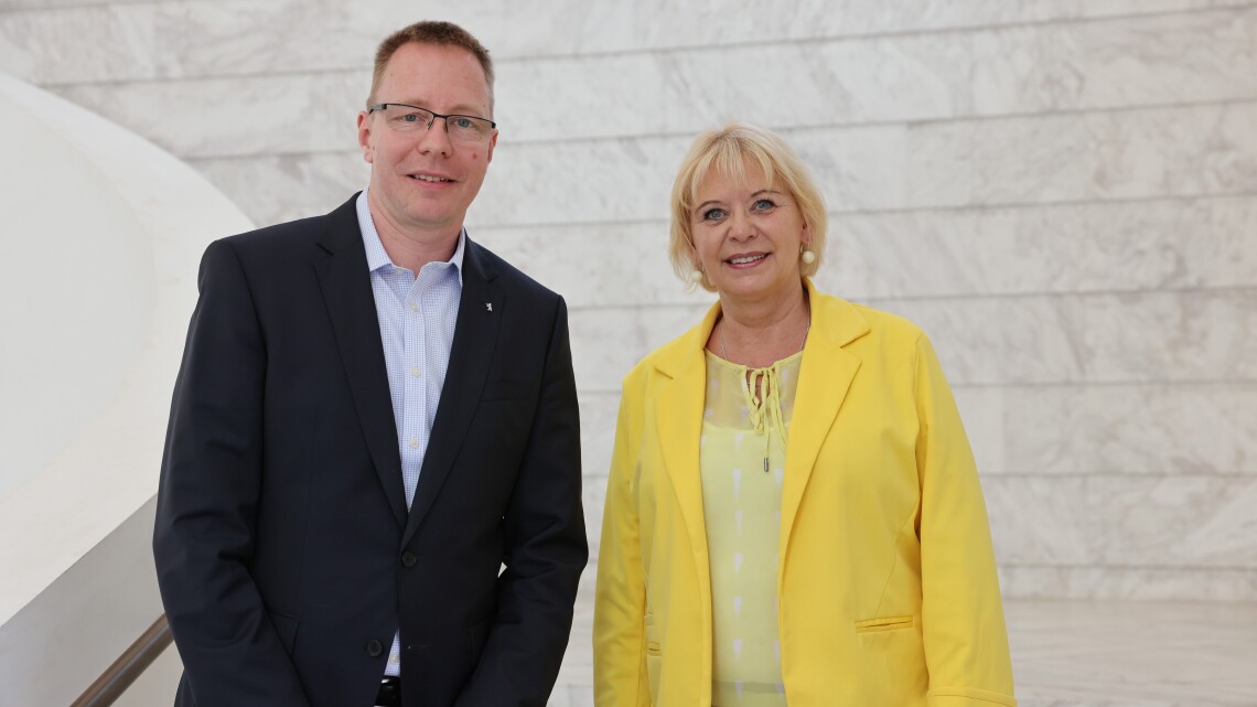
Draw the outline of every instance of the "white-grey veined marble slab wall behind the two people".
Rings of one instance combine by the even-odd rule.
[[[0,69],[265,224],[365,184],[354,114],[401,5],[0,0]],[[737,118],[823,186],[820,284],[931,335],[1008,595],[1257,600],[1257,3],[437,8],[498,60],[469,230],[572,306],[591,528],[620,376],[710,301],[664,254],[671,176]]]

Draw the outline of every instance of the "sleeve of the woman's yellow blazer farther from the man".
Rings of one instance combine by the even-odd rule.
[[[921,630],[929,707],[1014,707],[999,580],[969,440],[934,347],[916,342]]]

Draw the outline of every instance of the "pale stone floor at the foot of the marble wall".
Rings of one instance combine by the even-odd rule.
[[[1009,600],[1004,613],[1021,707],[1257,707],[1257,604]],[[591,571],[549,707],[593,704],[592,620]]]

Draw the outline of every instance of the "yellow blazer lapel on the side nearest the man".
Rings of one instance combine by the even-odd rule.
[[[681,507],[695,561],[700,565],[700,582],[708,580],[706,526],[703,522],[703,484],[699,478],[699,444],[706,395],[704,348],[719,315],[720,304],[716,303],[701,323],[676,340],[655,364],[661,375],[671,379],[660,385],[655,398],[656,431],[664,468]]]

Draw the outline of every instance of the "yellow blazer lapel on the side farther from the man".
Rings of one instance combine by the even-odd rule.
[[[803,346],[794,413],[789,424],[789,439],[786,442],[786,481],[782,484],[778,545],[782,561],[778,564],[778,572],[786,566],[794,516],[816,467],[821,445],[860,369],[860,359],[842,347],[869,332],[869,323],[851,303],[818,293],[811,281],[804,282],[812,306],[812,331]]]

